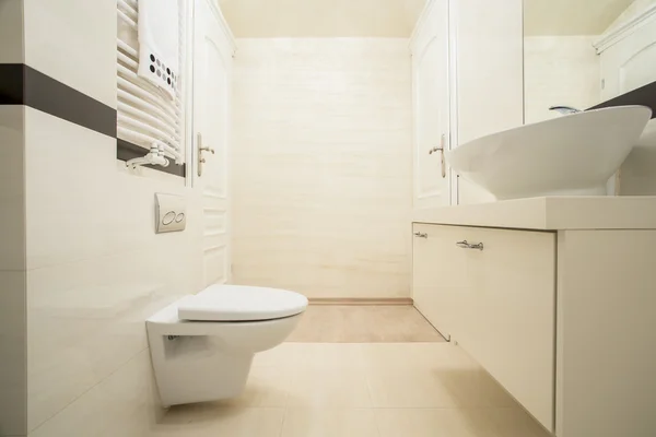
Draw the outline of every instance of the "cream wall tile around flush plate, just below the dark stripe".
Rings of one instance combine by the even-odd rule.
[[[191,196],[180,178],[134,177],[117,168],[115,139],[33,108],[25,114],[27,269],[190,237],[154,234],[154,192]]]

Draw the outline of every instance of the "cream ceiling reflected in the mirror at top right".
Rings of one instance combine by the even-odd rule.
[[[524,0],[524,34],[600,35],[634,0]]]

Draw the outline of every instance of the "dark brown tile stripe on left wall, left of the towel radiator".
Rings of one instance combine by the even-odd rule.
[[[0,64],[0,104],[30,106],[116,138],[116,109],[30,66]]]

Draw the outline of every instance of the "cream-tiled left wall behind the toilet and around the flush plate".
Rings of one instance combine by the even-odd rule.
[[[116,1],[23,0],[21,13],[20,58],[112,114]],[[127,172],[115,138],[28,106],[0,106],[0,435],[147,436],[161,410],[144,319],[201,285],[198,193]],[[154,234],[155,192],[187,198],[184,233]]]

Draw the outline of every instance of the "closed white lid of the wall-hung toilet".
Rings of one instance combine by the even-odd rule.
[[[210,285],[178,306],[178,318],[199,321],[271,320],[301,314],[307,298],[286,290]]]

